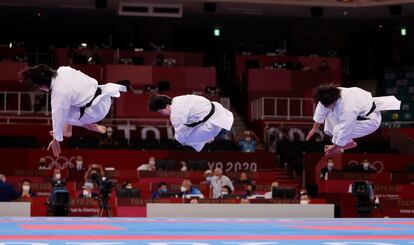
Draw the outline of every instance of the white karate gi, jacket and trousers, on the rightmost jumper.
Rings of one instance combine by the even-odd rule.
[[[372,97],[370,92],[352,87],[342,88],[341,98],[337,100],[333,110],[320,102],[316,106],[313,120],[325,123],[324,133],[332,136],[332,143],[344,146],[355,138],[373,133],[381,124],[380,111],[399,110],[401,101],[394,96]],[[376,109],[367,118],[358,121],[358,116],[365,117],[375,102]]]

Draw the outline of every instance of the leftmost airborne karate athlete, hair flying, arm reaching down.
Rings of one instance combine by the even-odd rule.
[[[63,136],[72,135],[72,125],[105,133],[106,127],[96,124],[108,114],[111,97],[119,97],[126,92],[122,85],[98,82],[69,66],[54,70],[47,65],[29,67],[20,73],[21,80],[45,92],[51,92],[53,140],[48,150],[52,149],[57,157]]]

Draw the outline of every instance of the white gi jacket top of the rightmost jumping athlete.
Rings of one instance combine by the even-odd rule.
[[[335,107],[331,110],[319,102],[313,120],[317,123],[323,123],[328,113],[332,113],[339,127],[335,142],[332,143],[344,146],[352,139],[350,136],[357,122],[357,117],[365,116],[371,109],[374,100],[370,92],[357,87],[339,87],[339,89],[341,90],[341,98],[336,101]]]

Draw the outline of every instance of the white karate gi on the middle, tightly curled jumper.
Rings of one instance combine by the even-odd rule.
[[[193,147],[201,151],[207,141],[216,137],[221,129],[230,131],[233,125],[233,113],[217,102],[214,114],[196,127],[188,127],[184,124],[199,122],[206,117],[211,110],[211,102],[198,95],[182,95],[172,99],[171,124],[175,130],[175,139],[182,145]]]

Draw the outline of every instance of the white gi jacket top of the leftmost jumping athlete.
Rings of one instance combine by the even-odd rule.
[[[70,107],[82,107],[92,100],[98,82],[69,66],[61,66],[51,83],[53,138],[63,140]]]

